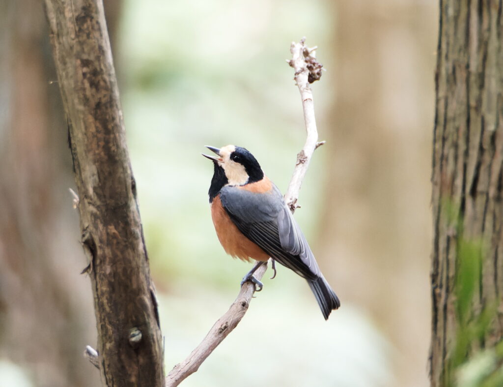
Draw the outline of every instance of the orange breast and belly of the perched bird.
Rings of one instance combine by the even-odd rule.
[[[218,240],[227,254],[243,261],[249,261],[250,258],[257,261],[267,261],[269,259],[269,254],[251,242],[237,229],[222,207],[218,195],[211,203],[211,218],[217,231]]]

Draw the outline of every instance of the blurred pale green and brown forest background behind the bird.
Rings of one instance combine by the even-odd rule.
[[[187,386],[426,386],[438,4],[107,0],[166,372],[249,264],[209,213],[203,145],[245,146],[285,192],[305,140],[285,62],[307,37],[320,147],[295,217],[342,300],[325,322],[280,267]],[[42,5],[0,2],[0,385],[94,386],[96,346],[67,129]],[[270,272],[266,273],[270,276]]]

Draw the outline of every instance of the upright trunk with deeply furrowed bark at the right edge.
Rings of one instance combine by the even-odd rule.
[[[503,334],[501,11],[501,2],[496,1],[440,2],[433,150],[432,386],[452,385],[460,359],[493,347]],[[465,254],[467,246],[471,254]],[[465,274],[464,268],[469,269]],[[473,292],[463,300],[459,289],[470,287]],[[464,326],[483,314],[488,317],[485,329],[476,337],[467,336]],[[463,340],[466,345],[460,345]]]

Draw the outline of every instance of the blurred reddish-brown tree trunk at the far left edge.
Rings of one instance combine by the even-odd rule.
[[[43,6],[0,2],[0,358],[40,386],[100,383],[73,185]]]

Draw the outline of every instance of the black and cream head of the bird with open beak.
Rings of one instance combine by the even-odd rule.
[[[225,185],[239,186],[255,183],[264,178],[259,162],[247,149],[235,145],[227,145],[220,149],[214,146],[206,147],[217,155],[215,157],[203,154],[215,165],[212,185],[214,183],[219,185],[218,190]]]

